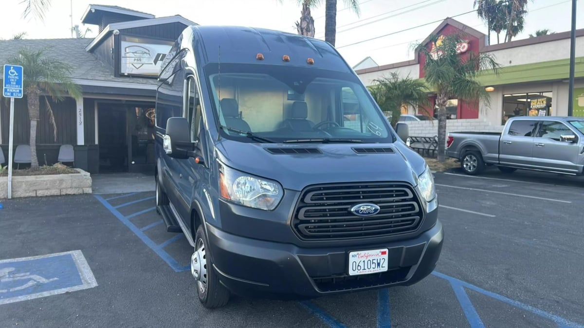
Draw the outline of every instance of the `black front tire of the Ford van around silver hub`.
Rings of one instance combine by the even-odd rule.
[[[203,283],[203,279],[197,280],[197,294],[199,295],[199,301],[205,308],[214,309],[220,308],[229,302],[230,292],[221,282],[219,281],[218,274],[213,270],[213,260],[211,256],[208,255],[206,250],[208,249],[207,237],[203,231],[203,225],[200,225],[194,236],[194,253],[193,259],[191,260],[191,273],[193,273],[193,261],[196,257],[197,252],[199,252],[200,267],[201,267],[201,278],[206,278]],[[200,252],[203,247],[203,252]]]

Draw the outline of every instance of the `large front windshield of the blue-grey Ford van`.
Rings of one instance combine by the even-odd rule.
[[[215,119],[225,138],[240,131],[277,142],[392,142],[387,118],[349,73],[262,64],[207,65]],[[236,130],[237,129],[237,130]]]

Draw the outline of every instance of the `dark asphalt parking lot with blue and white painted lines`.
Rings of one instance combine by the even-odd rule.
[[[153,192],[4,201],[0,326],[584,327],[581,177],[489,170],[435,180],[446,239],[419,284],[308,302],[234,296],[215,310],[199,304],[191,247],[165,231]],[[63,285],[36,298],[19,296],[16,274],[6,274],[20,264],[2,262],[77,250],[82,278],[64,284],[77,279],[65,260],[40,263],[46,276],[30,288]]]

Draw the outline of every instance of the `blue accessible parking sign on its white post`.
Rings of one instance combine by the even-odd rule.
[[[14,99],[22,98],[22,66],[4,65],[3,94],[10,98],[10,124],[8,129],[8,199],[12,198],[12,144],[14,135]]]

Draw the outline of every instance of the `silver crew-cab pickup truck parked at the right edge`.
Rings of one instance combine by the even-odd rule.
[[[512,117],[500,134],[451,132],[446,155],[460,159],[468,175],[481,173],[487,165],[505,173],[527,169],[582,175],[584,117]]]

